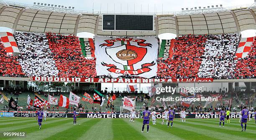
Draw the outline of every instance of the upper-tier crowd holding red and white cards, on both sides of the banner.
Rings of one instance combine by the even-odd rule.
[[[79,38],[60,35],[16,32],[19,56],[6,54],[0,44],[0,75],[111,78],[96,76],[95,58],[82,55]],[[174,41],[173,57],[157,59],[157,75],[152,78],[254,78],[256,42],[249,57],[237,59],[238,34],[184,35]],[[131,75],[119,78],[141,78]]]

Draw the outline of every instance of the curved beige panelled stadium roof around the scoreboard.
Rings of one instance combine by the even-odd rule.
[[[100,13],[100,12],[97,12]],[[139,15],[139,14],[138,14]],[[154,31],[102,31],[102,13],[63,10],[0,0],[0,26],[15,31],[106,36],[222,34],[256,29],[256,4],[155,15]]]

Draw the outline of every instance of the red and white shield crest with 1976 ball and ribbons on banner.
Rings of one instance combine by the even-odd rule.
[[[115,64],[107,64],[102,61],[102,66],[108,66],[108,71],[118,74],[129,74],[129,75],[139,75],[145,72],[151,71],[149,66],[154,66],[155,62],[150,61],[149,63],[141,64],[139,69],[134,69],[134,64],[141,62],[146,54],[148,53],[148,48],[152,46],[150,43],[144,43],[144,39],[125,39],[116,38],[105,40],[106,43],[100,44],[101,47],[105,47],[105,53],[118,64],[123,65],[123,68],[118,68]],[[115,42],[121,42],[120,46],[114,46]],[[132,45],[131,42],[136,42],[136,45]],[[146,59],[144,61],[147,61]]]

